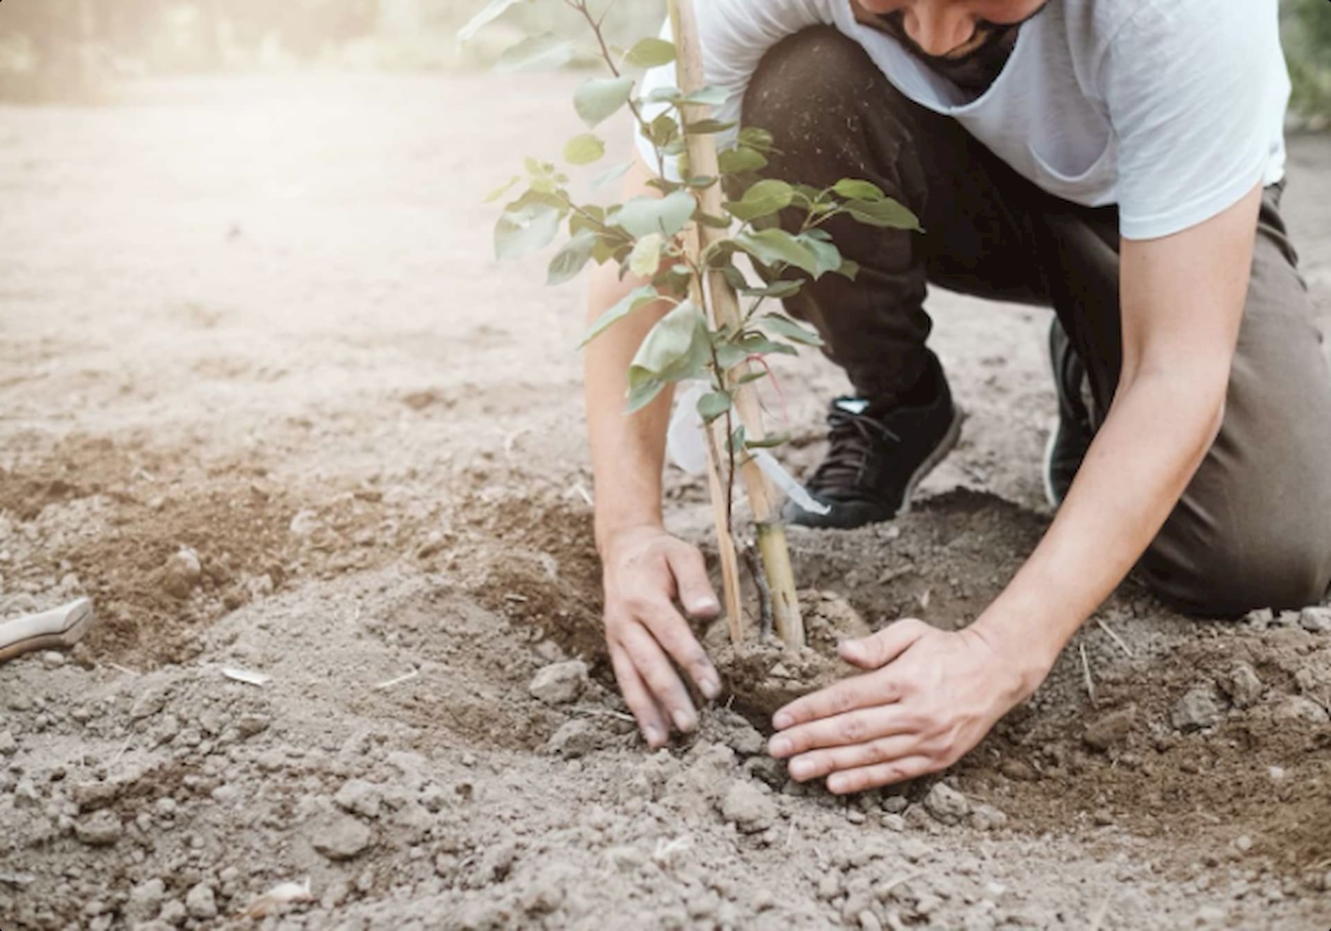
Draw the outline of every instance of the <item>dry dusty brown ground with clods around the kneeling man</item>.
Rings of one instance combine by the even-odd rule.
[[[596,631],[580,296],[492,262],[478,202],[556,151],[572,80],[0,109],[0,617],[101,617],[0,669],[0,928],[238,926],[306,878],[265,927],[1331,924],[1331,634],[1298,615],[1125,585],[960,795],[803,790],[721,710],[643,751]],[[1331,313],[1331,140],[1292,161]],[[973,617],[1047,519],[1046,314],[934,308],[962,446],[908,518],[793,541],[874,623]],[[804,466],[840,382],[784,384]],[[705,539],[701,486],[671,499]],[[572,657],[570,703],[528,694]]]

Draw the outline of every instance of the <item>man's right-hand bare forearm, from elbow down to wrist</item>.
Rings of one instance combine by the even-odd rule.
[[[973,625],[1022,666],[1028,694],[1163,526],[1215,440],[1225,385],[1213,370],[1121,389],[1057,519]]]

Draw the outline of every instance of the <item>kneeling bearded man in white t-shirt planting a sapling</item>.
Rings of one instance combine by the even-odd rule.
[[[965,630],[898,621],[843,645],[862,674],[773,719],[793,778],[849,792],[950,766],[1134,566],[1197,614],[1324,595],[1331,380],[1279,216],[1275,0],[712,0],[699,16],[721,116],[775,136],[768,174],[866,178],[926,230],[833,226],[858,278],[789,302],[857,393],[833,402],[808,482],[831,513],[796,522],[889,519],[956,442],[926,282],[1057,313],[1055,519]],[[602,270],[591,313],[636,284]],[[587,408],[610,654],[660,746],[696,723],[671,661],[708,698],[720,685],[675,607],[717,610],[697,551],[662,529],[669,401],[622,413],[652,322],[594,344]]]

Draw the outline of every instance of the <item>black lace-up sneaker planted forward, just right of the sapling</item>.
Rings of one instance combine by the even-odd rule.
[[[948,381],[932,354],[925,377],[934,382],[934,392],[922,406],[876,405],[849,397],[832,402],[828,454],[805,483],[809,494],[832,510],[815,514],[789,501],[787,521],[849,530],[910,510],[916,485],[961,437],[961,410],[952,404]]]

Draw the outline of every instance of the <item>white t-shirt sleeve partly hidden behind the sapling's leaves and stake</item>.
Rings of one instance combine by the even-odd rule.
[[[713,108],[712,117],[725,123],[739,123],[744,92],[769,48],[805,27],[832,21],[827,0],[695,0],[693,5],[705,81],[725,92],[725,103]],[[669,20],[662,27],[660,37],[673,41]],[[676,85],[675,65],[662,65],[643,75],[639,93]],[[643,108],[643,116],[651,121],[668,107],[648,105]],[[737,133],[737,129],[717,133],[716,144],[729,148]],[[643,162],[655,169],[656,149],[651,140],[643,137],[636,127],[634,140]],[[679,180],[672,164],[667,164],[667,173]]]

